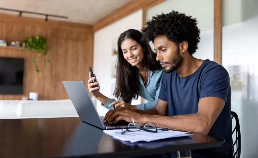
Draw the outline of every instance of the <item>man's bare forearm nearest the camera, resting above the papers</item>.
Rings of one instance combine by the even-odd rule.
[[[210,128],[207,119],[197,113],[177,116],[147,115],[144,123],[154,123],[157,127],[180,131],[193,131],[207,135]]]

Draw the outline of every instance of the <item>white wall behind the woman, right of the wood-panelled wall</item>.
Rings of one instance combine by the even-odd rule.
[[[116,56],[112,56],[112,41],[128,29],[140,31],[141,28],[142,10],[139,10],[94,33],[93,72],[100,84],[100,92],[109,98],[115,98],[112,94],[115,78],[111,78],[111,65],[112,61],[116,60]],[[132,104],[140,103],[140,97],[132,101]],[[108,111],[99,101],[97,101],[97,110],[100,116],[104,116]]]

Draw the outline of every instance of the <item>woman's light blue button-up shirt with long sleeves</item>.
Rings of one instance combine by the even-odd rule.
[[[151,71],[148,77],[147,86],[145,87],[145,85],[143,84],[142,78],[138,73],[138,80],[140,81],[139,96],[141,96],[143,99],[146,99],[147,103],[141,103],[136,105],[137,109],[148,110],[148,109],[153,109],[156,106],[156,103],[158,101],[158,96],[159,96],[162,74],[163,74],[163,69],[159,69],[154,72]],[[108,99],[108,104],[107,105],[101,104],[101,105],[108,110],[114,109],[113,107],[108,107],[108,106],[109,104],[111,104],[116,100],[108,97],[107,99]],[[123,99],[123,98],[120,97],[120,99]],[[128,102],[127,104],[131,105],[131,103],[132,101]]]

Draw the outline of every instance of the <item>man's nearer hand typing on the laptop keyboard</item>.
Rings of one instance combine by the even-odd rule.
[[[131,110],[122,110],[122,111],[116,111],[110,117],[109,121],[112,121],[116,118],[115,123],[120,121],[120,120],[125,120],[126,122],[132,122],[131,117],[133,118],[134,122],[138,123],[139,125],[144,125],[148,120],[148,117],[144,116],[141,113],[134,112],[134,111],[131,111]]]

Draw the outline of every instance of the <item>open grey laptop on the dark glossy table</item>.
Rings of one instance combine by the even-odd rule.
[[[79,118],[101,129],[126,128],[128,122],[107,122],[101,118],[91,100],[83,81],[62,81]]]

